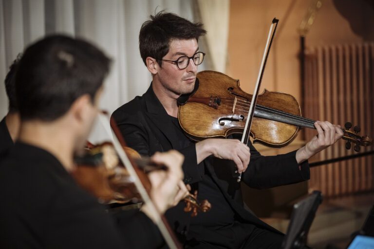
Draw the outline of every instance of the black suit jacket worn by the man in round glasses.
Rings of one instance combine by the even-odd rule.
[[[184,182],[198,183],[202,180],[201,171],[197,164],[195,144],[181,148],[170,117],[153,92],[152,85],[143,96],[135,97],[129,103],[119,107],[112,114],[130,147],[142,155],[151,156],[157,151],[176,149],[185,156],[183,171]],[[301,170],[296,161],[296,151],[279,156],[261,156],[249,142],[251,160],[242,180],[248,186],[256,189],[270,188],[284,184],[295,183],[309,179],[307,162],[301,164]],[[240,183],[232,176],[235,165],[230,160],[220,160],[209,157],[205,160],[214,182],[224,193],[229,205],[244,222],[276,231],[262,222],[253,213],[243,208]],[[224,164],[223,166],[220,166]],[[184,203],[170,209],[166,216],[171,226],[179,234],[188,232],[190,214],[183,212]],[[219,217],[212,217],[217,219]],[[278,231],[277,231],[278,232]]]

